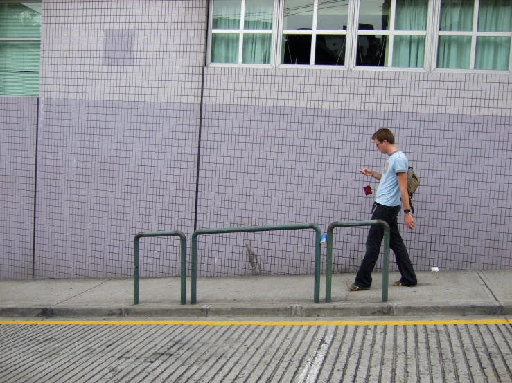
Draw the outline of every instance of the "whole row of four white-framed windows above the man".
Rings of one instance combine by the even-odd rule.
[[[512,0],[212,0],[209,63],[512,71]]]

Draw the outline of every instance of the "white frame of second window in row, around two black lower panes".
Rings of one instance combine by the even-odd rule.
[[[347,26],[346,30],[328,30],[328,29],[320,29],[317,30],[317,17],[318,17],[318,3],[320,0],[314,0],[313,2],[313,26],[310,30],[296,30],[296,29],[282,29],[283,21],[284,21],[284,4],[285,0],[277,0],[276,3],[279,3],[279,37],[276,44],[276,66],[283,68],[328,68],[328,69],[337,69],[337,70],[346,70],[347,60],[348,60],[348,45],[349,41],[351,41],[350,36],[350,21],[351,15],[353,12],[353,4],[354,0],[348,0],[348,15],[347,15]],[[283,50],[283,35],[311,35],[311,52],[310,52],[310,64],[281,64],[281,52]],[[344,65],[315,65],[315,53],[317,48],[317,35],[345,35],[345,64]]]

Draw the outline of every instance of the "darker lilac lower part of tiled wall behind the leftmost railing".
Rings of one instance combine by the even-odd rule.
[[[197,106],[46,99],[42,110],[37,277],[128,276],[137,232],[191,234]],[[155,243],[141,248],[143,276],[178,272],[174,241],[141,240]]]

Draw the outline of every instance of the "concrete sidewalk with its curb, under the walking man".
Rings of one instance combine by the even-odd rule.
[[[197,281],[197,304],[179,304],[179,278],[0,280],[0,317],[349,317],[371,315],[512,315],[512,270],[418,272],[414,288],[391,286],[381,302],[382,274],[371,290],[346,288],[354,274],[333,275],[331,303],[313,303],[313,276],[209,277]]]

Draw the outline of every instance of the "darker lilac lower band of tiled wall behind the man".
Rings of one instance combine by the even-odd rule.
[[[357,169],[382,171],[385,158],[371,140],[380,126],[393,129],[421,177],[415,230],[400,216],[416,269],[509,268],[510,117],[207,105],[198,225],[315,222],[326,230],[333,221],[369,219],[373,196],[364,196],[368,179]],[[334,270],[355,272],[367,228],[336,232]],[[203,272],[229,272],[245,260],[250,273],[249,240],[264,273],[297,272],[304,253],[304,271],[312,272],[312,234],[292,232],[216,239],[219,259],[205,259]]]

